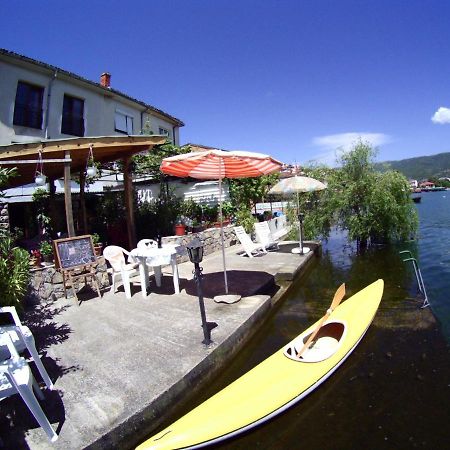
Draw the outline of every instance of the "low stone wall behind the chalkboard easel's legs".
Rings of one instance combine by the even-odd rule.
[[[25,301],[28,304],[49,303],[64,297],[64,287],[62,273],[55,268],[54,264],[47,265],[45,267],[31,269],[31,279],[28,289],[28,294]],[[100,285],[100,290],[110,286],[109,277],[107,273],[105,258],[100,257],[98,259],[97,266],[97,280]],[[97,291],[95,286],[91,286],[92,281],[87,279],[87,285],[93,290],[95,295]],[[75,290],[78,293],[84,288],[84,279],[76,280],[74,282]],[[69,283],[66,280],[67,297],[73,297],[73,290],[69,287]]]

